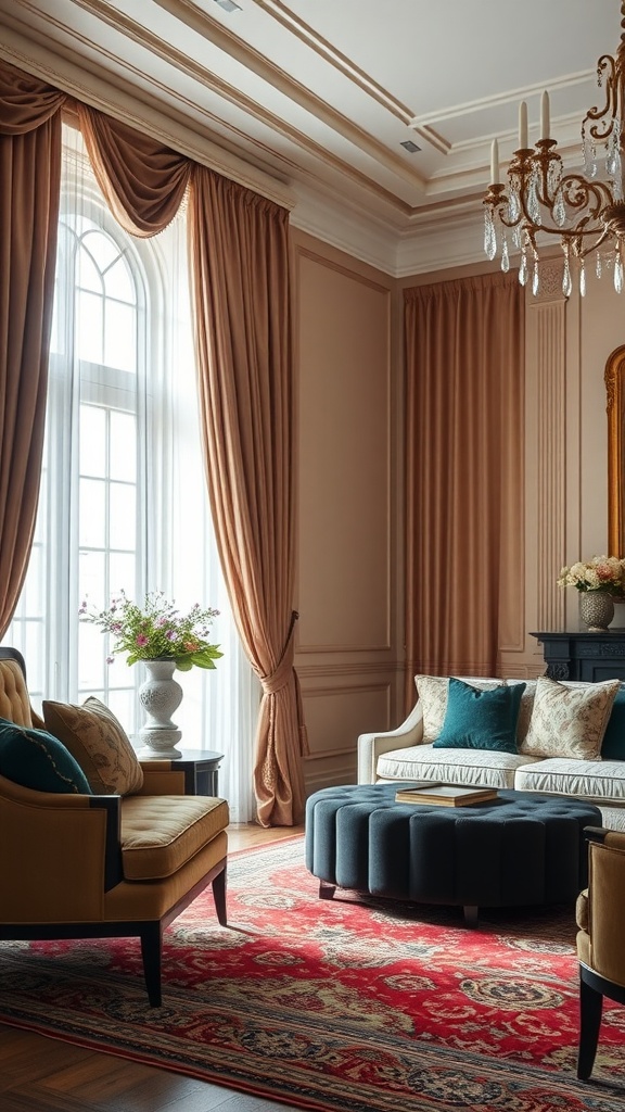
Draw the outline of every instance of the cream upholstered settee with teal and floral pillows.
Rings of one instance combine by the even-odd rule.
[[[625,831],[625,684],[546,676],[524,686],[435,676],[416,676],[415,684],[417,702],[397,729],[358,738],[358,783],[427,781],[571,795],[596,804],[605,827]],[[485,707],[480,728],[482,693],[502,687],[516,695],[488,696],[500,705],[494,719]]]

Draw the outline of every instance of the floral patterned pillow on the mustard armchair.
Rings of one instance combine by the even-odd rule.
[[[78,761],[96,794],[131,795],[143,784],[143,770],[120,722],[100,699],[82,706],[43,702],[46,729]]]

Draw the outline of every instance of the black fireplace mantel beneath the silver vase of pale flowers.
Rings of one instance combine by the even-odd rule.
[[[552,679],[625,681],[625,629],[563,629],[529,636],[543,645],[546,675]]]

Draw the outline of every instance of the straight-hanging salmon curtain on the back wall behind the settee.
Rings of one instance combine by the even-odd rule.
[[[516,272],[405,291],[413,677],[498,675],[518,627],[524,290]]]

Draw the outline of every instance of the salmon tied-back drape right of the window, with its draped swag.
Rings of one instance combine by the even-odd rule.
[[[294,396],[288,212],[86,106],[80,127],[118,219],[151,236],[189,189],[200,414],[232,612],[262,685],[258,818],[304,816],[306,735],[294,668]]]

